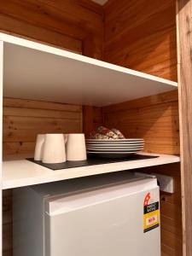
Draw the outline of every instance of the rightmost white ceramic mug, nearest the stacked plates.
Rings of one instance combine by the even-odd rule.
[[[86,160],[86,145],[84,133],[71,133],[67,135],[67,160]]]

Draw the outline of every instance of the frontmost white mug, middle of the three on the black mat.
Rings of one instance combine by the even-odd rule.
[[[59,164],[66,161],[63,134],[45,134],[43,163]]]

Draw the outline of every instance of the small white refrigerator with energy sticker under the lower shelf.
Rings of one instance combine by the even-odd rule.
[[[160,256],[154,177],[122,172],[14,191],[14,256]]]

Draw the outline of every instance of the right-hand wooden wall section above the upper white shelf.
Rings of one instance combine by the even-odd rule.
[[[177,81],[175,0],[109,0],[105,61]]]

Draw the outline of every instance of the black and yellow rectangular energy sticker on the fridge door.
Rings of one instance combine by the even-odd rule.
[[[159,201],[144,204],[144,212],[143,212],[143,230],[144,233],[154,230],[160,225],[160,206]]]

